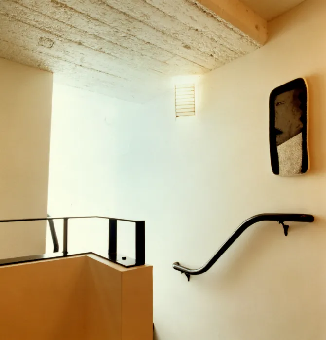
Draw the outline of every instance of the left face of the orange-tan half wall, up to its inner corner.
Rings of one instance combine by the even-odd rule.
[[[85,257],[0,268],[0,339],[84,339]]]

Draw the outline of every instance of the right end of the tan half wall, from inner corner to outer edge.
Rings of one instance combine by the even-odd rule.
[[[153,339],[152,267],[126,269],[88,258],[87,339]]]

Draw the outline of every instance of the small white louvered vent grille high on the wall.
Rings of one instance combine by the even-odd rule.
[[[195,115],[195,84],[175,85],[176,117]]]

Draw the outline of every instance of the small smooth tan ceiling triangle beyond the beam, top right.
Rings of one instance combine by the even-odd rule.
[[[241,0],[254,12],[270,21],[289,11],[305,0]]]

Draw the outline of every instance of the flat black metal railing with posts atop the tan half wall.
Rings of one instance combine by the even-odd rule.
[[[63,256],[67,256],[68,255],[68,220],[93,219],[93,218],[109,220],[109,242],[108,242],[108,257],[106,257],[107,259],[127,268],[135,267],[135,266],[142,266],[145,264],[145,221],[117,219],[117,218],[105,217],[105,216],[71,216],[71,217],[49,217],[48,216],[47,218],[0,220],[0,223],[49,221],[52,241],[54,244],[54,253],[56,253],[59,250],[59,243],[58,243],[58,239],[56,236],[53,220],[63,220],[63,252],[62,253],[63,253]],[[117,222],[118,221],[126,221],[126,222],[135,223],[135,228],[136,228],[135,259],[117,254]],[[72,255],[75,255],[75,254],[72,254]],[[17,259],[0,260],[0,265],[9,264],[9,263],[13,264],[13,263],[19,263],[19,262],[30,262],[30,261],[35,261],[38,259],[54,258],[54,257],[59,257],[59,255],[35,255],[35,256],[27,256],[25,259],[17,258]]]

